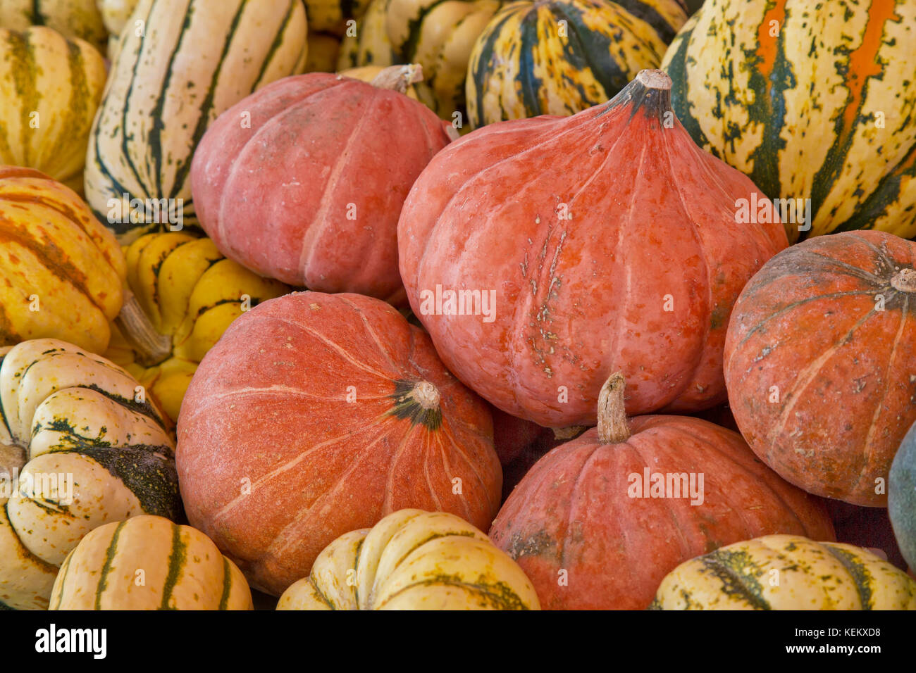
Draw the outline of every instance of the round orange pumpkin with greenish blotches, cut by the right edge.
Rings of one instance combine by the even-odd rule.
[[[793,245],[741,292],[725,342],[738,428],[812,494],[887,506],[916,421],[916,244],[849,232]]]

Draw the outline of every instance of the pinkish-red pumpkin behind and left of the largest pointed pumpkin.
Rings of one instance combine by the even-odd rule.
[[[203,137],[191,188],[220,251],[262,276],[404,303],[398,213],[449,135],[403,95],[415,66],[373,81],[311,73],[265,87]],[[239,125],[250,114],[250,127]],[[290,142],[290,138],[295,142]]]

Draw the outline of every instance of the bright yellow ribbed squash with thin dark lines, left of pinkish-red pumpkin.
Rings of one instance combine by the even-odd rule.
[[[125,256],[128,286],[155,333],[137,335],[122,316],[123,330],[113,325],[105,357],[135,375],[177,421],[197,364],[229,324],[290,288],[226,259],[209,238],[184,232],[144,234]],[[146,348],[150,338],[164,343]]]

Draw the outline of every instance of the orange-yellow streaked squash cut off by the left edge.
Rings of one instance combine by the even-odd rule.
[[[94,353],[121,309],[125,258],[70,189],[0,166],[0,346],[54,337]]]

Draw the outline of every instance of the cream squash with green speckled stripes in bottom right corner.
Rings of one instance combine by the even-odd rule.
[[[863,548],[769,535],[685,561],[649,610],[916,610],[916,581]]]

